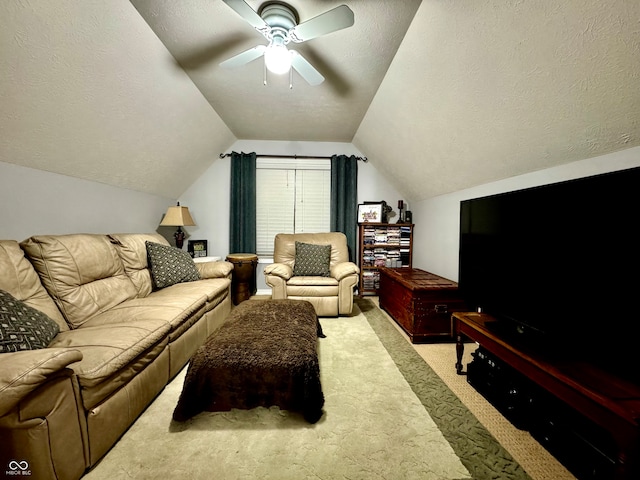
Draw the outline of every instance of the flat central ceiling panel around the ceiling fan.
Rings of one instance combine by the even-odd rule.
[[[351,142],[420,5],[348,2],[355,25],[291,43],[326,78],[308,85],[297,73],[269,74],[263,59],[228,70],[219,63],[267,40],[222,0],[131,0],[214,110],[240,139]],[[246,2],[259,11],[262,0]],[[291,0],[304,23],[340,0]]]

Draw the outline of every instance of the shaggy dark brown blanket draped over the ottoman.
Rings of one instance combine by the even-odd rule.
[[[191,359],[174,420],[277,405],[317,422],[324,405],[318,336],[324,335],[307,301],[241,303]]]

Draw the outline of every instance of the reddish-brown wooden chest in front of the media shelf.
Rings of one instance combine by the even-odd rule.
[[[380,268],[379,298],[412,343],[452,340],[451,313],[468,310],[456,282],[417,268]]]

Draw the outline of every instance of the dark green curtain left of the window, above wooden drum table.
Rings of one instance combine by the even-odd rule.
[[[256,253],[255,152],[231,152],[229,253]]]

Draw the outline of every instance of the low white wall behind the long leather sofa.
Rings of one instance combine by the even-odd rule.
[[[174,204],[169,198],[0,162],[2,239],[154,232]]]

